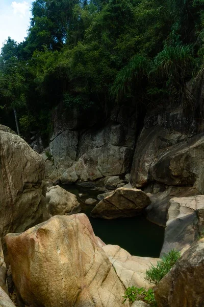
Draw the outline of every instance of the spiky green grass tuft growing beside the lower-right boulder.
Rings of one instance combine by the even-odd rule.
[[[146,279],[150,283],[158,284],[174,266],[179,257],[180,252],[171,250],[168,254],[162,257],[162,260],[157,262],[157,267],[151,265],[151,268],[146,271]]]

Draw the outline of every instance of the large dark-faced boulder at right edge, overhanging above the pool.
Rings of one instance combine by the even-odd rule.
[[[151,166],[152,179],[172,186],[190,185],[203,193],[203,134],[171,146]]]

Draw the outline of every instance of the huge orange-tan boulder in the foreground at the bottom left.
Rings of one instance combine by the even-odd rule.
[[[124,287],[85,214],[54,216],[24,233],[8,234],[6,242],[26,305],[129,306],[122,305]]]

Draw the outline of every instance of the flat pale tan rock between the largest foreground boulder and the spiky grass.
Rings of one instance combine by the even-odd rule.
[[[117,245],[105,245],[102,248],[125,288],[132,286],[151,288],[152,285],[145,279],[145,273],[151,264],[157,265],[158,258],[131,256]]]

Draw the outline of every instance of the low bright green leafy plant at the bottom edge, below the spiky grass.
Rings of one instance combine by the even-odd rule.
[[[123,303],[127,299],[130,303],[134,303],[136,300],[142,300],[150,306],[157,306],[154,291],[152,289],[145,290],[144,288],[136,288],[135,286],[129,287],[125,290],[123,299]]]

